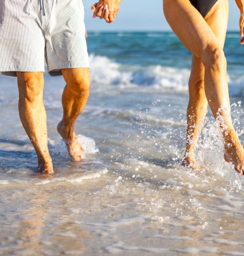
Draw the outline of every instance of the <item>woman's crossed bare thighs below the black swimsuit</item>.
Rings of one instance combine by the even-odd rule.
[[[223,42],[220,44],[219,39],[208,23],[211,23],[214,30],[222,26],[224,29],[222,28],[221,30],[226,31],[223,24],[228,22],[228,5],[221,5],[224,2],[227,2],[227,0],[218,0],[206,16],[206,20],[204,20],[188,0],[163,1],[164,15],[171,29],[180,38],[185,47],[198,58],[202,57],[205,49],[223,48],[221,46]],[[216,19],[220,19],[220,21],[216,22]],[[223,32],[218,33],[221,38],[224,34]]]

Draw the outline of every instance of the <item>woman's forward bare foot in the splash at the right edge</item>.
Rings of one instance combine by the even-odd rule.
[[[236,172],[244,175],[244,150],[235,133],[225,139],[224,159],[227,162],[232,162]]]

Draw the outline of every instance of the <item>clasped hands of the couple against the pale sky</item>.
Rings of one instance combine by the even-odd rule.
[[[93,17],[105,19],[107,23],[114,22],[120,9],[120,2],[121,0],[99,0],[92,5]]]

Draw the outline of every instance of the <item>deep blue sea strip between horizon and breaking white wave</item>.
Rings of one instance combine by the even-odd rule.
[[[243,74],[243,45],[239,31],[227,33],[224,52],[228,72]],[[90,54],[107,56],[127,65],[191,67],[191,52],[172,32],[89,32]]]

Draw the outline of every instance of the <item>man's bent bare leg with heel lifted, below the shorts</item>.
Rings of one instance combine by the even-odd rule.
[[[74,161],[81,161],[84,150],[74,133],[76,120],[89,97],[91,77],[89,68],[62,69],[66,87],[63,90],[63,119],[57,129],[66,143],[67,150]]]

